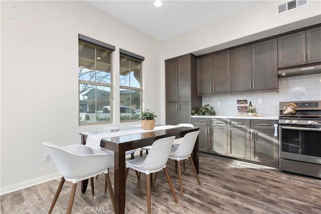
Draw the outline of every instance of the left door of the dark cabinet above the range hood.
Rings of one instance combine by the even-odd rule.
[[[279,68],[306,64],[305,31],[279,37],[277,43]]]

